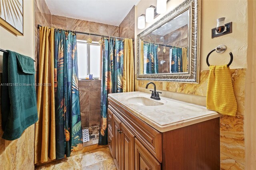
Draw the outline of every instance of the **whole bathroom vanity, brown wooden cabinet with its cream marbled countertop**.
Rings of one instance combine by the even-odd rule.
[[[150,94],[108,95],[108,142],[119,170],[220,169],[220,114]]]

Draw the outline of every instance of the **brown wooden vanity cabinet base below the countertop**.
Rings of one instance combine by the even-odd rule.
[[[220,119],[158,132],[108,98],[109,148],[118,170],[220,169]]]

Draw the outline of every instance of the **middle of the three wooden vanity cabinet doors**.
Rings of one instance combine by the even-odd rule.
[[[135,136],[126,128],[124,124],[121,123],[122,134],[122,170],[134,170],[135,157],[134,157],[134,138]]]

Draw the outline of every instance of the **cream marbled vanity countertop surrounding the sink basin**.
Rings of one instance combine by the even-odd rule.
[[[158,101],[164,104],[160,106],[138,106],[128,102],[128,98],[133,96],[150,98],[151,95],[144,92],[114,93],[108,96],[159,132],[167,132],[221,116],[204,106],[161,96],[161,100]]]

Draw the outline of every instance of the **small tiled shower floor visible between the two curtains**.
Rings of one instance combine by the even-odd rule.
[[[99,141],[99,129],[100,126],[90,126],[88,128],[83,128],[83,145],[85,146],[90,146],[94,144],[98,144]],[[88,131],[89,131],[89,141],[87,140],[86,136],[88,136]]]

